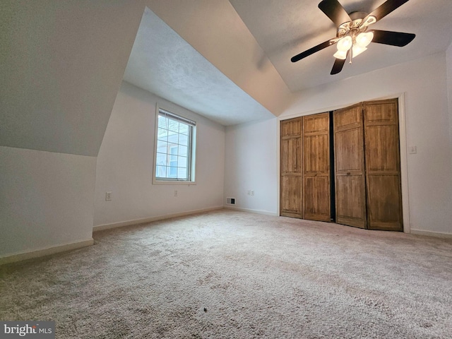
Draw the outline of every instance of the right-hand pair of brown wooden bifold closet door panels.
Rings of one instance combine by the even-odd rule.
[[[364,102],[333,113],[336,222],[403,230],[398,102]]]

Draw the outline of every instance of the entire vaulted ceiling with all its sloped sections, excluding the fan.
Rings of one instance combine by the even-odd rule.
[[[290,62],[335,36],[318,2],[4,0],[0,145],[97,155],[123,78],[231,125],[278,116],[307,88],[451,44],[452,1],[410,0],[375,28],[413,32],[411,44],[371,44],[331,76],[335,47]],[[340,2],[369,12],[384,0]]]

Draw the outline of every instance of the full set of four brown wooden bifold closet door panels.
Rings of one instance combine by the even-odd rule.
[[[280,215],[331,221],[333,206],[339,224],[403,230],[398,100],[338,109],[332,125],[330,117],[281,121]]]

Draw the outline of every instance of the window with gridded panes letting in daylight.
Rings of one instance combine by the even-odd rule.
[[[157,106],[155,182],[194,182],[196,122]]]

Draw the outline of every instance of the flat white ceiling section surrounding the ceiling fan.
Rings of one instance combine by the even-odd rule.
[[[386,0],[339,0],[347,11],[370,13]],[[335,46],[292,63],[290,58],[335,37],[336,28],[318,8],[320,0],[230,0],[266,56],[292,90],[304,90],[332,81],[445,51],[452,39],[451,0],[410,0],[373,29],[415,33],[406,47],[370,44],[367,52],[330,75]]]

